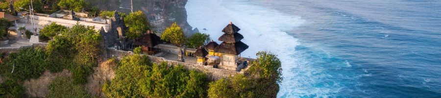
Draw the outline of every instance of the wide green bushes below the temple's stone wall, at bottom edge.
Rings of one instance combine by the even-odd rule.
[[[152,64],[135,54],[121,60],[112,83],[104,84],[102,91],[110,98],[204,98],[206,79],[204,73]]]

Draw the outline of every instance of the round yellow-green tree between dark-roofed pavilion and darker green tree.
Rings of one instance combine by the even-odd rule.
[[[185,43],[184,31],[176,23],[167,27],[161,35],[161,40],[170,42],[176,46],[182,46]]]

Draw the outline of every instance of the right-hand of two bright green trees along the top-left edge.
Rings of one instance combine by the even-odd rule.
[[[87,7],[88,2],[86,0],[60,0],[57,5],[61,9],[80,12]]]

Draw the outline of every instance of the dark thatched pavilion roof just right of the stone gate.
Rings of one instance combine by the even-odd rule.
[[[154,47],[161,44],[161,38],[154,33],[147,33],[133,43],[138,46]]]

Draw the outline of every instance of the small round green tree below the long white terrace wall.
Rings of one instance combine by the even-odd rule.
[[[55,23],[51,23],[50,25],[45,25],[43,29],[40,30],[40,36],[46,36],[48,38],[53,38],[55,35],[60,34],[60,32],[66,30],[67,27],[63,25],[57,25]]]

